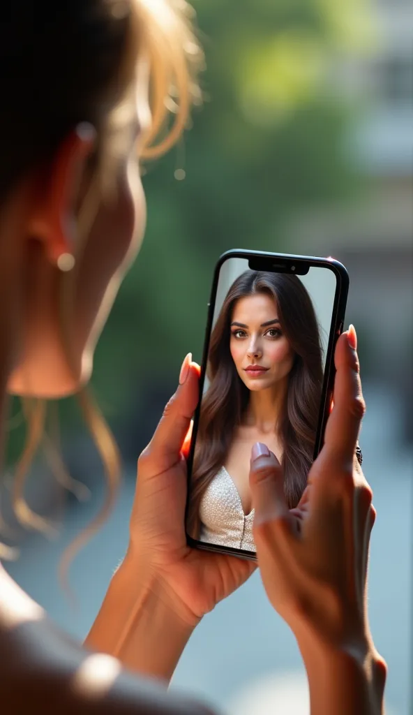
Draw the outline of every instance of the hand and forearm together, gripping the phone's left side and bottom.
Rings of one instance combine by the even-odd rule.
[[[179,383],[139,457],[129,548],[86,638],[89,648],[165,681],[199,619],[256,568],[186,544],[186,454],[199,399],[199,366],[191,355]]]

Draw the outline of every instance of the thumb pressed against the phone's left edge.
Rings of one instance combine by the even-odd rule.
[[[182,363],[179,387],[166,405],[154,436],[141,455],[152,474],[170,469],[181,458],[199,399],[199,365],[192,363],[191,358],[189,352]]]

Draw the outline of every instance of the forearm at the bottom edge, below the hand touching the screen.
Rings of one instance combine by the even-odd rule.
[[[354,648],[299,642],[314,715],[384,715],[387,666],[372,644]]]

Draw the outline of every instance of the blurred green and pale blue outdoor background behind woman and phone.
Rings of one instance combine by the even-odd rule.
[[[359,335],[367,416],[361,443],[378,518],[369,602],[389,664],[389,715],[412,705],[413,6],[409,0],[196,0],[204,106],[184,141],[146,167],[149,225],[96,352],[94,391],[124,458],[114,513],[71,567],[59,556],[99,511],[104,474],[73,400],[59,406],[78,501],[46,465],[26,494],[61,523],[54,541],[17,528],[12,466],[24,428],[10,422],[2,535],[10,573],[67,631],[84,638],[127,543],[136,457],[174,392],[181,360],[201,360],[217,257],[230,248],[332,255],[350,275],[347,322]],[[114,237],[116,240],[116,237]],[[65,503],[64,503],[65,502]],[[204,618],[176,670],[184,689],[227,715],[308,711],[294,638],[259,576]],[[412,712],[413,710],[410,710]]]

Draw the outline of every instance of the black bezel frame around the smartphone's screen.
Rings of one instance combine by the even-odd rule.
[[[323,382],[323,388],[322,388],[322,398],[320,402],[320,410],[319,410],[319,420],[318,420],[318,425],[317,425],[317,435],[316,435],[316,440],[315,440],[315,445],[314,445],[314,457],[313,461],[315,458],[317,458],[317,455],[319,454],[319,451],[322,448],[323,441],[324,441],[324,432],[327,424],[327,419],[329,416],[329,405],[331,405],[332,402],[332,394],[333,394],[333,387],[334,387],[334,375],[335,375],[335,367],[334,367],[334,348],[336,345],[336,342],[339,338],[339,335],[341,335],[343,326],[344,326],[344,317],[345,317],[345,312],[346,312],[346,305],[347,305],[347,296],[349,292],[349,274],[347,272],[346,267],[339,261],[335,260],[332,257],[328,258],[322,258],[322,257],[316,257],[316,256],[304,256],[304,255],[294,255],[294,254],[289,254],[289,253],[273,253],[273,252],[267,252],[267,251],[253,251],[253,250],[245,250],[245,249],[234,249],[234,250],[229,250],[223,253],[218,261],[217,264],[215,265],[214,268],[214,277],[212,280],[212,288],[211,288],[211,294],[209,297],[209,303],[207,305],[208,307],[208,315],[207,315],[207,320],[206,320],[206,330],[205,330],[205,337],[204,337],[204,348],[202,352],[202,363],[201,363],[201,375],[199,378],[199,395],[203,395],[204,392],[204,381],[205,381],[205,376],[206,376],[206,362],[208,358],[208,352],[209,352],[209,340],[211,337],[211,331],[212,331],[212,324],[214,321],[214,310],[215,310],[215,303],[216,303],[216,298],[217,298],[217,289],[218,289],[218,282],[219,282],[219,272],[222,268],[222,265],[224,265],[224,262],[231,258],[244,258],[247,260],[263,260],[263,265],[267,265],[267,262],[269,264],[268,267],[263,268],[262,270],[269,270],[271,272],[291,272],[291,266],[293,264],[299,265],[300,270],[304,270],[305,267],[308,266],[310,267],[322,267],[327,270],[331,270],[335,277],[336,277],[336,291],[334,295],[334,303],[333,303],[333,310],[332,310],[332,322],[330,325],[330,333],[329,333],[329,341],[328,341],[328,347],[327,347],[327,355],[326,355],[326,363],[325,363],[325,368],[324,368],[324,382]],[[282,270],[276,270],[274,268],[274,260],[277,261],[282,261],[283,267]],[[292,273],[292,275],[304,275],[303,273],[300,274],[300,270],[295,271]],[[307,271],[305,271],[307,272]],[[199,541],[198,539],[194,539],[192,536],[189,535],[189,533],[186,531],[186,522],[187,522],[187,517],[188,517],[188,511],[189,511],[189,501],[190,501],[190,495],[191,495],[191,473],[192,473],[192,465],[194,462],[194,450],[195,450],[195,443],[196,443],[196,435],[198,432],[198,425],[199,425],[199,417],[201,413],[201,399],[199,399],[198,405],[196,405],[196,410],[194,413],[194,424],[193,424],[193,430],[192,430],[192,435],[191,435],[191,444],[189,448],[189,455],[187,458],[187,470],[188,470],[188,478],[187,478],[187,496],[186,496],[186,508],[185,508],[185,533],[186,533],[186,543],[188,543],[189,546],[194,547],[194,548],[199,548],[204,551],[214,551],[217,553],[229,553],[232,554],[233,556],[239,556],[241,558],[247,558],[252,561],[257,561],[257,556],[253,551],[244,551],[244,549],[240,548],[232,548],[229,546],[219,546],[218,544],[212,544],[212,543],[205,543],[204,541]]]

